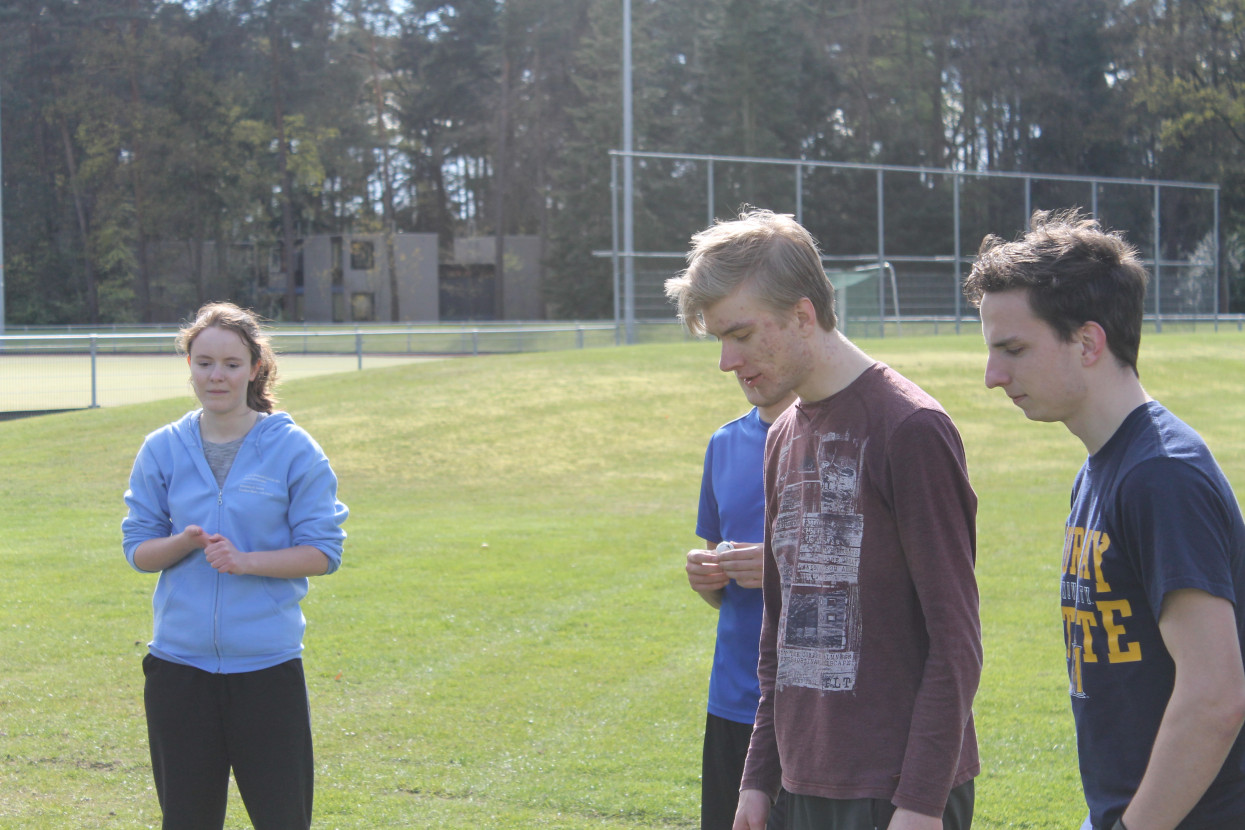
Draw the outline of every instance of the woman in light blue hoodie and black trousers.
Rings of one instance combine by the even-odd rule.
[[[126,492],[126,559],[158,572],[143,658],[166,830],[220,830],[229,773],[255,830],[311,825],[299,601],[341,564],[346,505],[324,450],[274,412],[259,319],[207,305],[178,336],[200,408],[147,436]]]

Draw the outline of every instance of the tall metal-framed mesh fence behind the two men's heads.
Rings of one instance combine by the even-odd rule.
[[[635,168],[631,250],[621,244],[627,218],[616,174],[626,158]],[[635,320],[669,316],[662,286],[685,266],[691,235],[742,205],[794,215],[830,273],[893,269],[870,309],[848,309],[845,329],[855,322],[857,335],[889,332],[900,317],[956,330],[975,321],[961,286],[981,240],[1015,238],[1037,209],[1079,208],[1123,231],[1150,271],[1147,314],[1159,329],[1228,311],[1218,184],[619,151],[611,162],[620,319],[631,307]]]

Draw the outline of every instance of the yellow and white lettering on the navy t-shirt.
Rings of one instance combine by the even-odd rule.
[[[1111,548],[1111,536],[1091,528],[1064,526],[1063,579],[1059,604],[1063,606],[1063,642],[1068,658],[1068,693],[1088,698],[1083,669],[1086,663],[1132,663],[1142,658],[1142,645],[1128,637],[1127,623],[1133,616],[1128,600],[1107,599],[1111,584],[1102,560]]]

